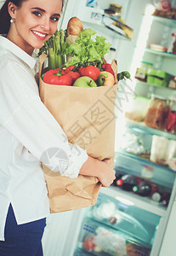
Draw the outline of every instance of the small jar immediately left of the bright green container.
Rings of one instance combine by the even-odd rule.
[[[140,81],[146,82],[147,73],[152,68],[153,64],[147,61],[141,61],[140,67],[137,68],[135,73],[135,79],[139,79]]]

